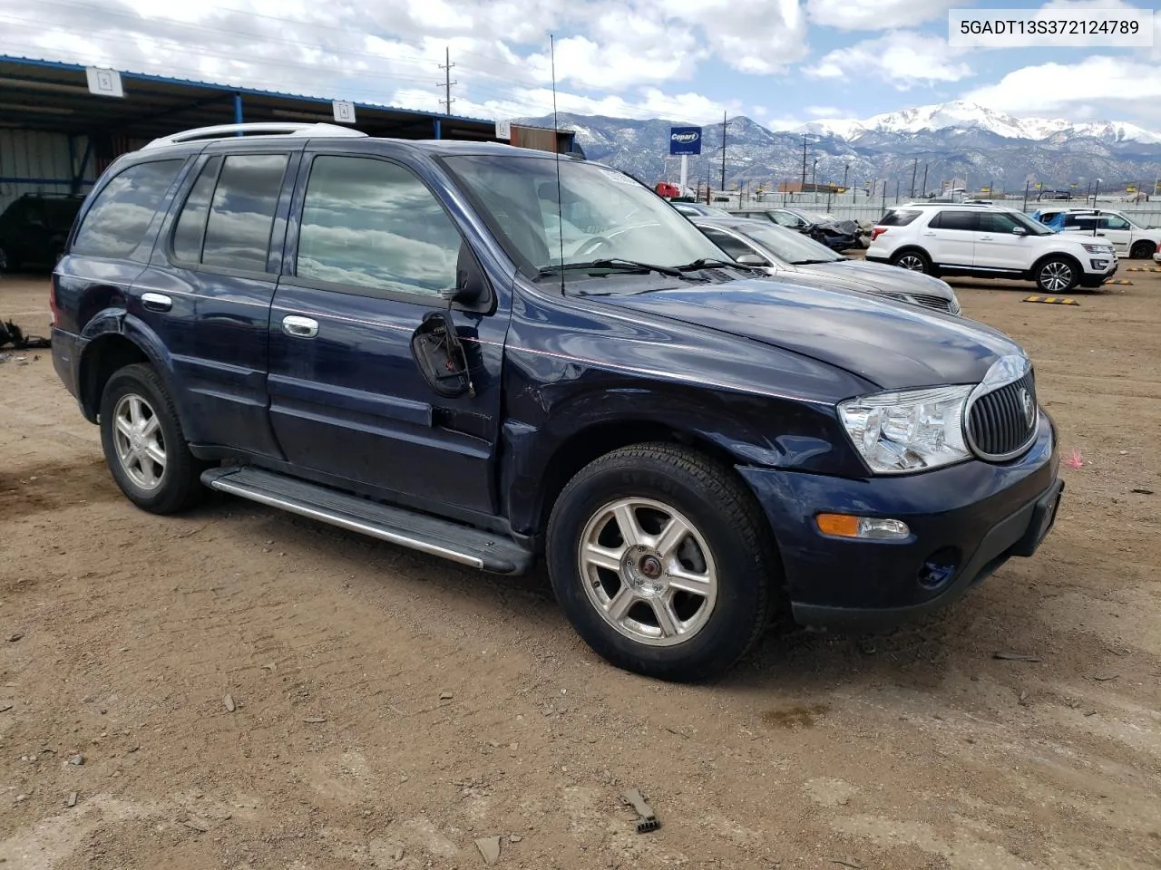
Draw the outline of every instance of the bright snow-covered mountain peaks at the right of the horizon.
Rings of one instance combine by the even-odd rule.
[[[1151,132],[1124,122],[1073,123],[1061,118],[1017,118],[961,100],[936,106],[920,106],[902,111],[889,111],[863,121],[820,119],[794,128],[795,132],[837,136],[850,140],[857,140],[870,132],[921,133],[943,130],[982,130],[1005,139],[1030,139],[1033,142],[1043,142],[1063,133],[1069,137],[1089,137],[1112,143],[1161,144],[1161,133]]]

